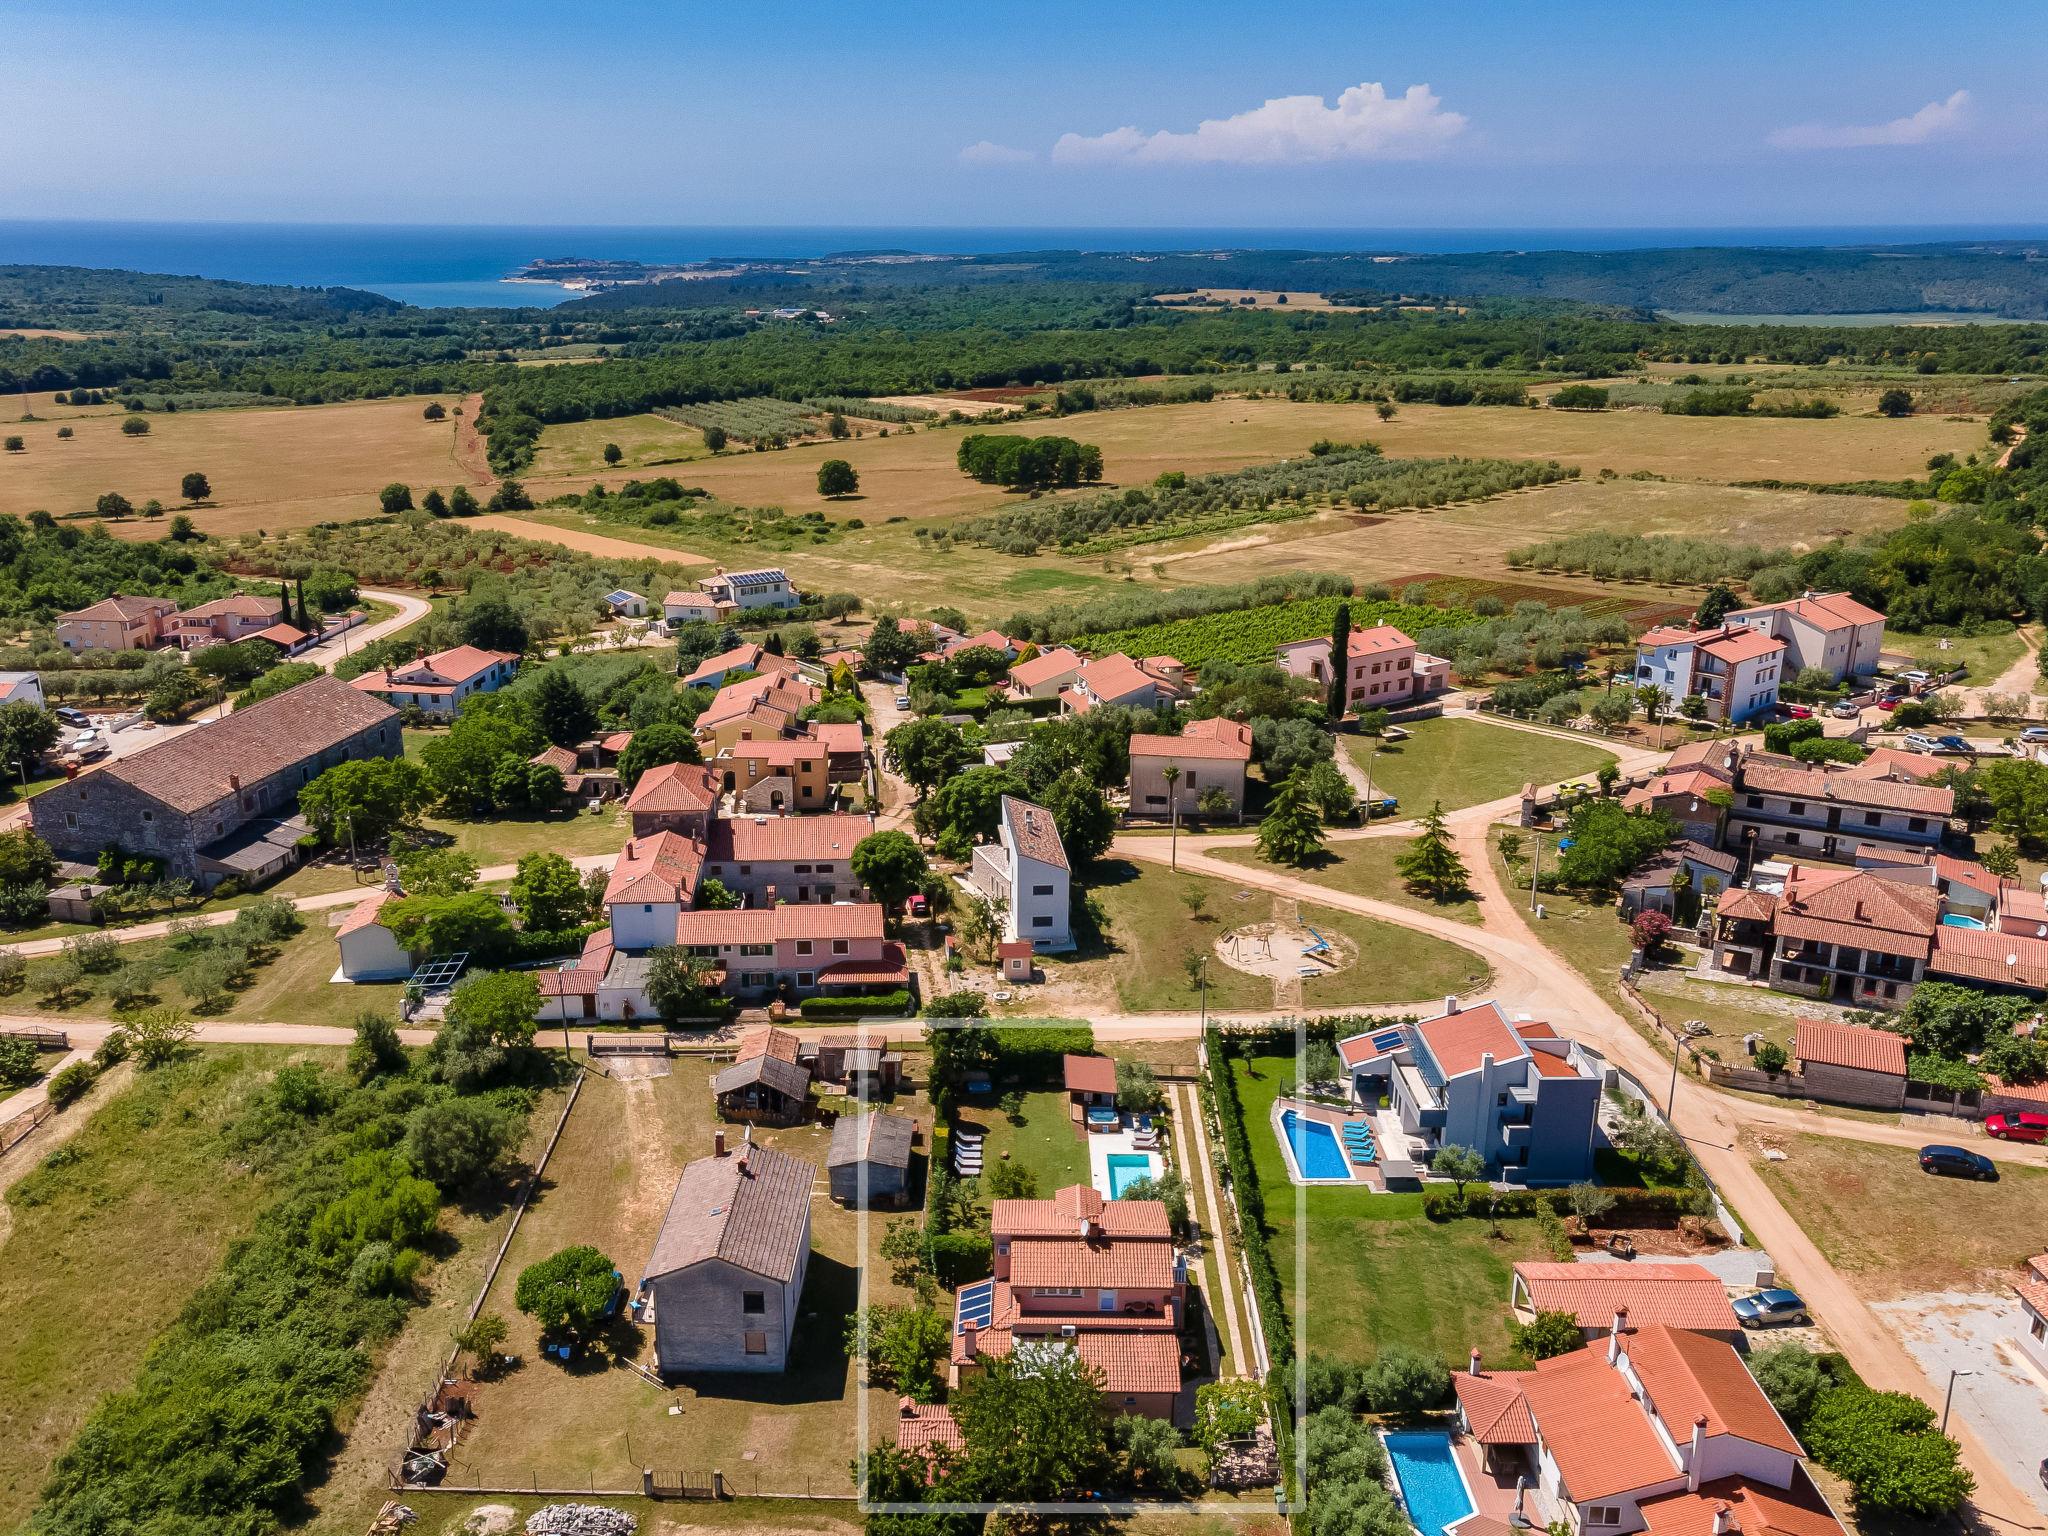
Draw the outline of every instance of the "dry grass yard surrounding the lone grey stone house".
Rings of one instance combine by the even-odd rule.
[[[860,1223],[831,1204],[819,1180],[811,1206],[811,1268],[799,1305],[791,1366],[774,1376],[696,1376],[657,1389],[610,1362],[563,1368],[541,1358],[532,1323],[512,1311],[518,1272],[571,1243],[592,1243],[637,1278],[668,1212],[682,1165],[711,1153],[711,1063],[678,1059],[668,1077],[588,1077],[547,1184],[528,1208],[489,1309],[512,1323],[516,1370],[477,1397],[477,1423],[457,1452],[455,1477],[498,1485],[635,1487],[641,1466],[709,1475],[723,1468],[741,1491],[846,1491],[854,1454],[856,1395],[842,1325],[858,1298]],[[918,1106],[905,1108],[918,1114]],[[926,1110],[926,1120],[930,1112]],[[819,1124],[756,1130],[756,1141],[823,1167],[829,1130]],[[868,1223],[879,1247],[883,1221]],[[868,1272],[870,1298],[895,1298],[889,1268]],[[651,1354],[651,1337],[641,1354]],[[670,1413],[676,1405],[682,1411]],[[868,1391],[874,1421],[893,1399]]]

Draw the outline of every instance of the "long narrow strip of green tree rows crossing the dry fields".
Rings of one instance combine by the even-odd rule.
[[[1313,453],[1309,459],[1217,475],[1161,475],[1149,487],[1016,506],[950,528],[932,528],[930,539],[940,547],[965,541],[1004,555],[1036,555],[1047,547],[1069,555],[1092,555],[1249,522],[1280,522],[1325,506],[1391,512],[1479,502],[1579,473],[1556,461],[1386,459],[1370,442],[1319,446],[1323,453]]]

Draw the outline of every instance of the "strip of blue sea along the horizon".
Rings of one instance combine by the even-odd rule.
[[[541,256],[639,262],[915,250],[1655,250],[1683,246],[1915,246],[2042,240],[2048,225],[1843,225],[1657,229],[1231,229],[918,225],[424,225],[424,223],[92,223],[0,219],[0,266],[119,266],[293,287],[350,287],[422,307],[551,307],[578,297],[506,279]]]

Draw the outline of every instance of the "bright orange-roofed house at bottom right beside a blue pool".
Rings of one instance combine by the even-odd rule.
[[[1610,1325],[1536,1370],[1487,1372],[1475,1350],[1452,1386],[1483,1475],[1526,1477],[1573,1530],[1841,1534],[1798,1440],[1722,1339]]]

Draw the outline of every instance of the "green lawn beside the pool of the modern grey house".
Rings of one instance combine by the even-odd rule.
[[[1462,1366],[1475,1346],[1491,1366],[1526,1366],[1507,1339],[1509,1270],[1546,1257],[1536,1223],[1434,1223],[1419,1194],[1296,1188],[1272,1135],[1272,1102],[1294,1081],[1292,1057],[1233,1061],[1251,1161],[1266,1192],[1274,1264],[1303,1350],[1370,1360],[1386,1343],[1434,1352]],[[1296,1266],[1296,1223],[1307,1217],[1307,1268]]]

